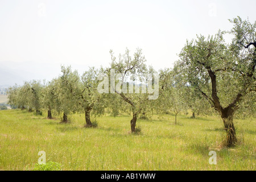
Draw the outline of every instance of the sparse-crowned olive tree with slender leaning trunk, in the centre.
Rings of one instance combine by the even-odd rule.
[[[118,94],[123,101],[130,105],[133,113],[133,118],[130,121],[131,133],[135,133],[138,115],[141,113],[145,102],[150,100],[151,97],[148,96],[148,93],[151,93],[153,87],[154,91],[157,89],[158,97],[158,83],[154,84],[157,81],[152,81],[152,77],[145,77],[148,75],[148,69],[141,49],[138,48],[133,57],[130,55],[129,49],[126,49],[123,55],[120,54],[118,59],[112,50],[110,55],[112,57],[111,69],[109,69],[110,93]],[[146,84],[147,81],[149,84]],[[144,92],[146,89],[147,92]]]

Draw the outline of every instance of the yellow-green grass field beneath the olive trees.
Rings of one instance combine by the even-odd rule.
[[[32,169],[38,152],[63,170],[255,170],[255,119],[236,119],[238,146],[221,147],[225,138],[217,117],[191,119],[153,115],[138,120],[141,134],[130,134],[129,115],[97,118],[84,128],[84,114],[68,124],[22,110],[0,111],[0,170]],[[210,165],[209,151],[217,165]]]

